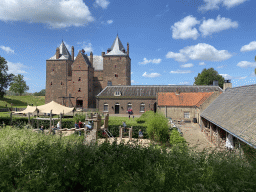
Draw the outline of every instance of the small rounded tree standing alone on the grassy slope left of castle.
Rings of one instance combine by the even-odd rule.
[[[24,81],[24,76],[18,74],[17,76],[13,77],[13,82],[10,84],[10,91],[13,91],[14,93],[19,93],[20,96],[27,90],[29,90],[29,87],[26,84],[26,81]]]

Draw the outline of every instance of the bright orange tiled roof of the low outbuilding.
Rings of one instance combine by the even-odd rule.
[[[192,93],[175,93],[167,92],[158,93],[157,105],[158,106],[187,106],[187,107],[200,107],[203,102],[208,99],[214,92],[192,92]]]

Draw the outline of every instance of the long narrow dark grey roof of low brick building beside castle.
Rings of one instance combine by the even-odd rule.
[[[97,96],[112,97],[116,91],[121,91],[119,97],[155,97],[158,92],[214,92],[222,89],[218,86],[193,86],[193,85],[131,85],[107,86]]]

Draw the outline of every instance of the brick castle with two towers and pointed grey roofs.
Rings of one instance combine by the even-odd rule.
[[[118,35],[107,53],[90,56],[79,51],[74,58],[62,41],[53,57],[46,60],[45,103],[55,101],[68,107],[95,108],[96,95],[106,86],[131,85],[129,43],[125,50]]]

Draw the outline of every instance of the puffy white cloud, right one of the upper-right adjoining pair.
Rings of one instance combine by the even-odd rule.
[[[238,23],[236,21],[231,21],[229,18],[217,16],[216,20],[208,19],[204,20],[199,27],[199,31],[202,33],[203,37],[211,35],[213,33],[218,33],[229,28],[237,28]]]

